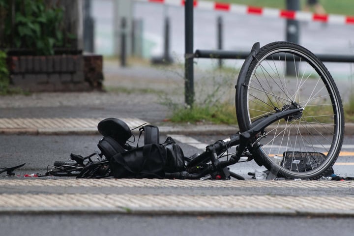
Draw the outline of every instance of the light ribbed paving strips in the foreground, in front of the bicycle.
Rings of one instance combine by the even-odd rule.
[[[342,196],[353,191],[351,181],[7,179],[0,186],[5,214],[354,216],[354,197]]]

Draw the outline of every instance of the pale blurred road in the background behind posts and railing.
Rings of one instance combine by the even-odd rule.
[[[92,0],[91,15],[95,22],[94,48],[96,54],[105,58],[115,55],[120,31],[117,30],[117,16],[114,0]],[[330,10],[330,9],[328,9]],[[132,18],[140,22],[138,30],[140,48],[138,54],[144,59],[161,57],[164,54],[164,24],[165,18],[170,22],[169,53],[175,62],[184,63],[184,7],[179,5],[160,4],[148,1],[133,1]],[[194,50],[217,49],[217,19],[223,21],[223,50],[248,52],[253,43],[261,46],[286,40],[286,20],[279,17],[238,14],[217,10],[194,9]],[[315,54],[353,55],[354,25],[332,24],[314,21],[299,22],[299,44]],[[135,36],[137,37],[137,36]],[[129,38],[129,33],[128,33]],[[129,40],[129,39],[128,39]],[[136,40],[137,41],[137,40]],[[205,71],[217,65],[213,59],[194,59],[195,71]],[[240,68],[243,59],[224,60],[224,65],[230,68]],[[352,91],[354,67],[352,63],[325,62],[334,77],[342,99],[346,100]],[[105,72],[119,70],[119,73],[134,75],[132,70],[119,64],[107,64]],[[161,70],[163,71],[163,70]],[[166,72],[166,71],[163,71]],[[149,71],[137,71],[138,76],[151,75]],[[183,76],[183,71],[181,71]],[[159,76],[170,76],[160,73]],[[166,86],[167,87],[167,86]]]

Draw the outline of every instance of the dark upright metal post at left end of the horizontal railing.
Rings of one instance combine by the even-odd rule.
[[[189,106],[194,103],[194,74],[193,74],[193,0],[185,0],[184,4],[184,30],[185,30],[185,92],[184,100]]]

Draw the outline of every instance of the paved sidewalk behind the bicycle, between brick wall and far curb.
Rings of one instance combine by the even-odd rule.
[[[97,123],[115,117],[131,128],[156,124],[161,133],[233,134],[237,125],[189,125],[165,122],[170,114],[164,94],[183,100],[183,80],[176,71],[146,66],[120,68],[105,63],[104,85],[110,92],[42,92],[2,96],[2,134],[96,134]],[[174,69],[175,70],[175,69]],[[182,82],[182,83],[181,83]]]

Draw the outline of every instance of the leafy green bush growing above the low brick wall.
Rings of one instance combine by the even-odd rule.
[[[0,0],[0,6],[8,9],[5,3]],[[5,35],[8,38],[14,35],[8,44],[34,49],[37,55],[53,55],[54,47],[63,46],[62,8],[47,8],[44,0],[15,0],[15,8],[15,22],[7,20],[5,24]]]

